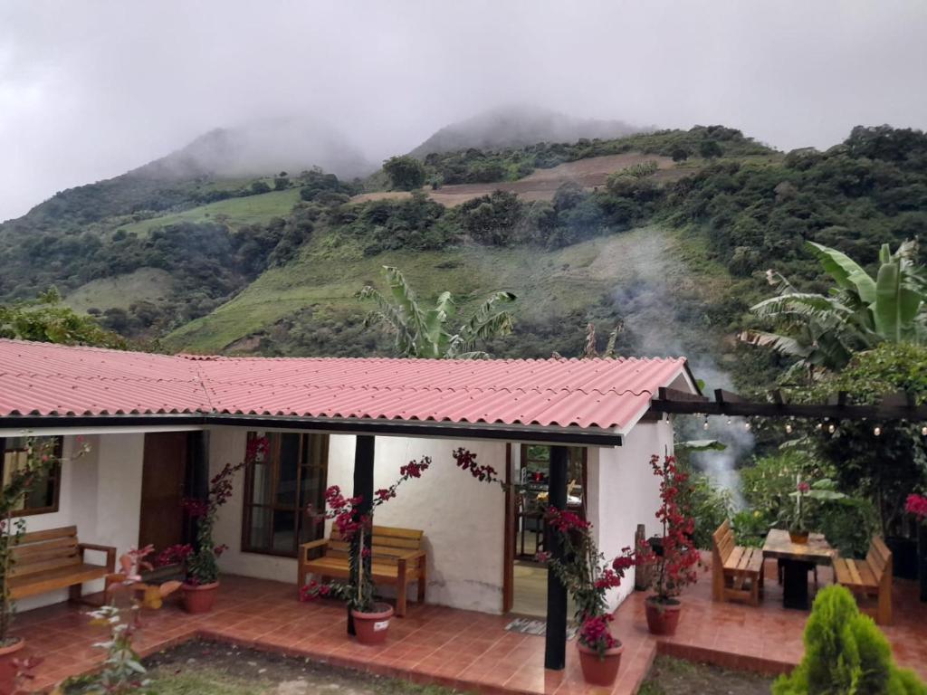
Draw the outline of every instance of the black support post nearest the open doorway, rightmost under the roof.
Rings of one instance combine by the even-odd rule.
[[[548,475],[548,502],[556,509],[566,509],[566,477],[569,449],[551,447]],[[564,547],[555,534],[544,538],[551,557],[561,560]],[[566,665],[566,588],[551,571],[547,573],[547,635],[544,645],[544,668],[561,671]]]

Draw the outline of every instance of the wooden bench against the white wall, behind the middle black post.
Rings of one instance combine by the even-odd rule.
[[[424,541],[424,533],[413,528],[374,526],[371,547],[374,583],[396,587],[396,614],[399,616],[405,615],[406,587],[410,583],[418,583],[418,602],[425,601],[427,558],[422,550]],[[306,583],[307,575],[315,575],[320,581],[347,579],[348,547],[334,527],[330,538],[299,546],[297,586],[301,588]],[[323,555],[312,559],[313,550],[322,550]]]

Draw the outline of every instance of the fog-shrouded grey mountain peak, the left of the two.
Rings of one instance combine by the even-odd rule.
[[[240,178],[321,167],[343,179],[375,170],[330,124],[307,118],[268,119],[216,128],[189,145],[130,172],[155,179]]]

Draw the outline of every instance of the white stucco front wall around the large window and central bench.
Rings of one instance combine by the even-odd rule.
[[[244,430],[216,428],[210,433],[210,471],[244,456]],[[328,452],[327,484],[353,487],[354,436],[332,435]],[[414,437],[376,437],[374,485],[386,487],[399,477],[400,465],[431,456],[432,467],[419,479],[400,487],[398,497],[377,507],[375,524],[420,528],[428,552],[426,600],[486,613],[502,609],[504,493],[500,486],[479,483],[454,464],[451,451],[465,447],[477,461],[502,474],[505,444]],[[216,524],[216,540],[229,546],[222,570],[296,583],[296,560],[241,551],[244,506],[243,474]],[[389,594],[389,588],[380,588]],[[413,599],[415,588],[409,588]]]

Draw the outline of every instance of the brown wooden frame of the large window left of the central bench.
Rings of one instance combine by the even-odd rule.
[[[283,436],[286,434],[292,434],[299,437],[299,446],[298,446],[298,463],[297,463],[297,475],[295,479],[296,485],[296,503],[294,505],[288,504],[279,504],[275,500],[277,498],[277,484],[280,477],[280,446],[283,442]],[[263,433],[264,436],[267,436],[270,440],[270,447],[268,448],[267,454],[265,455],[265,461],[260,462],[255,465],[268,465],[271,467],[270,481],[271,481],[271,494],[269,499],[271,502],[269,504],[256,504],[254,503],[254,471],[255,466],[248,466],[245,471],[245,494],[244,499],[242,500],[243,510],[242,510],[242,520],[241,520],[241,551],[253,553],[256,555],[273,555],[275,557],[284,557],[284,558],[295,558],[298,556],[299,548],[299,534],[302,531],[302,525],[306,522],[305,519],[305,510],[307,506],[299,506],[299,495],[301,494],[302,489],[302,473],[303,469],[309,468],[309,466],[303,464],[302,461],[305,460],[305,455],[307,450],[311,449],[310,446],[307,446],[311,442],[311,437],[322,437],[321,445],[321,454],[320,458],[322,462],[320,468],[322,469],[322,489],[321,492],[324,493],[324,488],[328,480],[328,451],[329,451],[329,436],[325,434],[306,434],[306,433],[284,433],[284,432],[268,432]],[[248,432],[248,441],[250,441],[255,436],[258,436],[256,432]],[[251,544],[251,521],[252,521],[252,512],[255,509],[268,510],[270,512],[270,524],[268,524],[267,535],[265,538],[266,545],[259,547]],[[321,510],[320,510],[321,511]],[[294,515],[294,525],[293,525],[293,549],[292,550],[275,550],[273,548],[273,515],[275,512],[293,512]],[[324,533],[324,531],[323,531]]]

